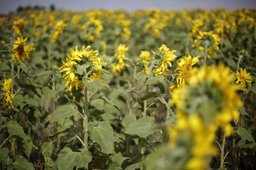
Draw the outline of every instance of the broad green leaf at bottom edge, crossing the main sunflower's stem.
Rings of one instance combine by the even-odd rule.
[[[81,168],[92,161],[92,155],[89,151],[74,152],[70,148],[63,148],[57,159],[59,170],[73,170],[74,167]]]

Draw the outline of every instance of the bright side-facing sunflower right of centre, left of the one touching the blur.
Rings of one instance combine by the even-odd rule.
[[[166,71],[168,70],[168,65],[172,66],[172,61],[175,60],[177,56],[174,55],[174,52],[176,50],[171,50],[167,48],[166,45],[162,45],[160,48],[158,48],[160,55],[156,54],[156,52],[152,51],[155,55],[156,59],[160,59],[160,62],[158,63],[158,68],[155,70],[155,76],[164,75]],[[167,65],[168,64],[168,65]]]

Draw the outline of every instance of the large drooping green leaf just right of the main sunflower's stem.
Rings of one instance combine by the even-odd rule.
[[[107,121],[102,121],[93,128],[91,139],[97,142],[106,153],[113,153],[114,130]]]

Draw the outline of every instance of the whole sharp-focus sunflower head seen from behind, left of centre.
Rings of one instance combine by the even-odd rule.
[[[62,61],[63,65],[59,69],[60,73],[65,72],[62,77],[64,82],[66,82],[66,86],[70,84],[70,88],[84,88],[85,85],[82,82],[84,72],[88,81],[101,79],[102,72],[98,70],[102,69],[101,62],[103,59],[98,57],[99,51],[89,50],[90,47],[87,46],[85,48],[83,46],[81,50],[78,50],[77,46],[75,50],[71,48],[69,50],[71,56],[67,54],[67,62]]]

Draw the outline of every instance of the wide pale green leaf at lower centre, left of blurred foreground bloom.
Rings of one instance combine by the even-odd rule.
[[[150,117],[144,117],[137,121],[131,121],[124,132],[127,134],[138,135],[141,138],[146,138],[149,134],[152,134],[155,131],[155,127],[151,125]]]

